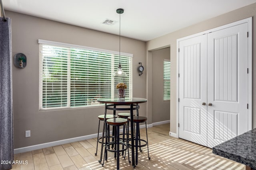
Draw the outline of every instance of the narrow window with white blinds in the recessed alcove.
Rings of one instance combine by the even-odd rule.
[[[164,59],[164,100],[170,100],[170,93],[171,93],[170,73],[171,73],[170,60]]]

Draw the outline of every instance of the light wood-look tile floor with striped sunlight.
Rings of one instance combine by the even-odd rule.
[[[149,154],[147,148],[139,152],[138,165],[132,168],[128,157],[120,156],[122,170],[243,170],[244,165],[212,154],[212,149],[169,136],[170,124],[148,128]],[[146,129],[140,129],[146,139]],[[28,164],[14,164],[12,170],[114,170],[116,159],[108,152],[108,160],[102,166],[100,147],[96,152],[96,138],[67,143],[14,155],[14,160],[27,160]],[[99,145],[100,146],[100,145]]]

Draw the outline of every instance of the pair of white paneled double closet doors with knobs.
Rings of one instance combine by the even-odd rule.
[[[248,25],[179,41],[179,137],[214,147],[248,129]]]

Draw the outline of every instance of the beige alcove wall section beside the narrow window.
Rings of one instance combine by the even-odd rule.
[[[152,51],[152,123],[170,120],[170,101],[164,101],[164,59],[170,60],[170,47]]]

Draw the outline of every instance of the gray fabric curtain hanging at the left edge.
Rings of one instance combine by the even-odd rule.
[[[6,20],[0,17],[0,160],[10,162],[1,162],[0,170],[11,169],[13,161],[11,22]]]

